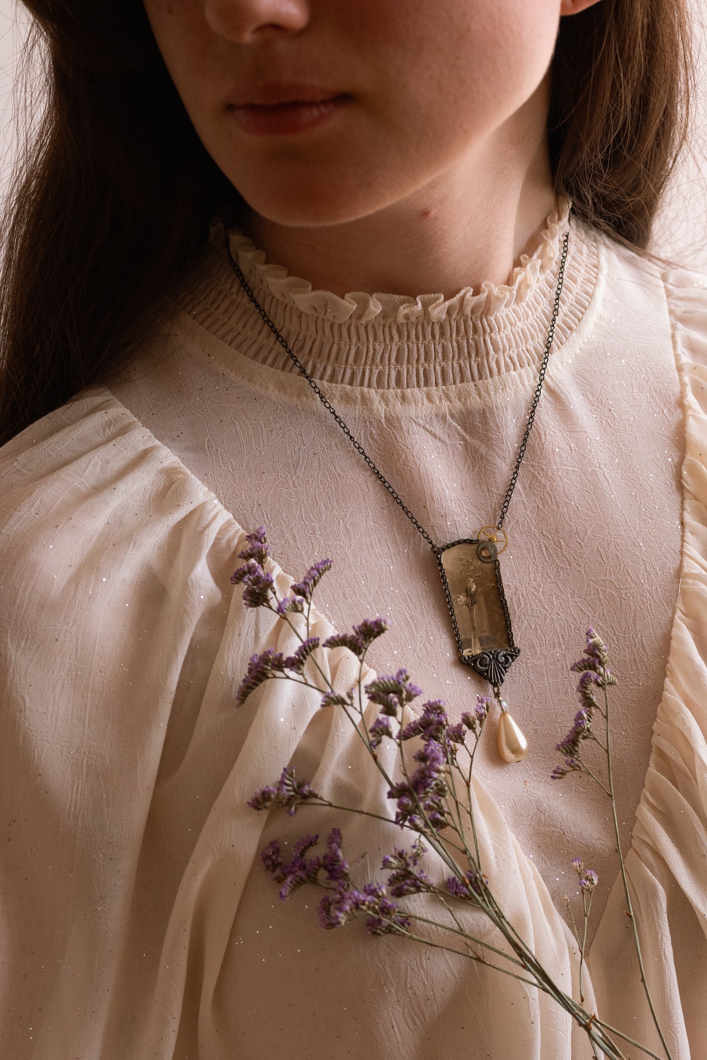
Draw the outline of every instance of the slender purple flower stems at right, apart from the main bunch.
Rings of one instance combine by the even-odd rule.
[[[608,644],[605,644],[599,634],[594,630],[593,626],[586,632],[586,646],[582,653],[582,657],[572,662],[570,666],[570,671],[580,674],[580,679],[577,685],[577,694],[580,700],[580,709],[575,714],[575,721],[572,727],[567,734],[567,736],[556,744],[556,749],[565,756],[562,765],[556,765],[551,773],[552,780],[563,780],[566,776],[571,774],[585,774],[589,779],[599,785],[599,788],[604,792],[612,805],[612,817],[614,822],[614,836],[616,840],[616,851],[619,859],[619,867],[621,872],[621,880],[623,883],[623,894],[626,901],[626,916],[631,920],[631,925],[633,928],[633,939],[634,948],[636,950],[636,956],[638,958],[638,968],[640,972],[640,982],[643,988],[643,993],[648,1002],[649,1009],[651,1011],[651,1017],[653,1019],[653,1024],[660,1039],[660,1044],[666,1050],[666,1057],[670,1060],[670,1049],[665,1039],[665,1035],[658,1022],[658,1017],[655,1011],[655,1006],[653,1005],[653,1000],[651,997],[651,991],[649,989],[648,980],[646,978],[646,970],[643,968],[643,958],[640,949],[640,940],[638,938],[638,925],[636,923],[636,917],[634,915],[633,903],[631,901],[631,891],[629,890],[629,881],[626,878],[625,866],[623,863],[623,853],[621,851],[621,836],[619,834],[619,822],[616,812],[616,798],[614,790],[614,773],[612,768],[612,734],[609,726],[609,701],[608,701],[608,689],[612,685],[616,685],[616,677],[612,674],[608,668]],[[599,719],[599,721],[598,721]],[[597,732],[597,725],[601,726],[601,732]],[[602,773],[603,776],[599,775],[599,768],[589,765],[584,756],[585,746],[594,746],[599,748],[601,752],[600,758],[603,759]],[[589,914],[589,907],[591,905],[591,896],[594,895],[594,889],[598,882],[597,873],[591,869],[585,870],[582,865],[580,858],[575,858],[572,860],[572,865],[576,868],[580,877],[580,891],[582,895],[582,902],[585,909],[585,922],[583,938],[586,940],[586,917]],[[566,899],[567,908],[572,920],[572,926],[575,929],[575,935],[577,937],[578,946],[580,947],[580,1000],[581,1000],[581,989],[582,989],[582,962],[584,955],[584,943],[580,943],[579,932],[577,931],[577,924],[575,923],[575,918],[571,914],[571,908],[569,906],[569,900]]]

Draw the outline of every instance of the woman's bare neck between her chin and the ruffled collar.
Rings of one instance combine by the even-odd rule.
[[[243,229],[313,287],[394,295],[506,283],[532,253],[552,210],[545,86],[454,166],[396,201],[344,224],[291,227],[250,211]]]

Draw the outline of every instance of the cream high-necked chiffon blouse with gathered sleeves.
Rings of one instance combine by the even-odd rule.
[[[567,225],[561,200],[507,285],[444,300],[313,290],[215,222],[201,279],[159,340],[109,388],[86,388],[0,450],[3,1057],[590,1056],[569,1019],[523,984],[369,936],[360,921],[324,932],[314,887],[278,899],[260,861],[270,838],[323,840],[338,825],[363,884],[385,879],[382,855],[400,836],[354,814],[246,805],[291,762],[334,801],[393,813],[359,741],[314,693],[273,682],[234,706],[249,656],[290,651],[293,638],[282,620],[247,611],[229,581],[244,534],[265,523],[281,593],[311,563],[334,561],[316,634],[387,615],[377,672],[407,667],[453,720],[485,691],[457,661],[435,558],[275,342],[225,241],[307,371],[444,542],[497,517]],[[492,887],[576,995],[571,858],[598,871],[586,1005],[661,1055],[606,797],[585,777],[550,780],[576,710],[568,667],[594,624],[619,681],[620,825],[674,1060],[707,1058],[706,505],[705,280],[572,220],[506,520],[520,655],[503,691],[531,752],[503,765],[484,734],[474,798]],[[325,665],[341,685],[353,679],[344,649]],[[441,879],[431,854],[425,867]]]

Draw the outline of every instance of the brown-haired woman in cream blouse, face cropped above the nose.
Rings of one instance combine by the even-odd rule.
[[[283,591],[333,556],[320,635],[389,615],[378,671],[455,720],[485,690],[428,542],[498,525],[547,348],[500,558],[531,753],[479,753],[484,871],[567,991],[571,858],[599,872],[585,1005],[657,1053],[605,796],[550,781],[594,621],[647,977],[671,1056],[705,1056],[707,296],[642,253],[684,135],[681,5],[29,6],[50,99],[3,281],[5,1054],[589,1055],[516,979],[279,903],[260,850],[333,822],[253,790],[291,761],[347,805],[386,791],[284,683],[233,707],[249,656],[288,648],[229,582],[261,523]],[[352,817],[375,877],[394,830]]]

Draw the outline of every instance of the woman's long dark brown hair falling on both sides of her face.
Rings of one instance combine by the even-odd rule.
[[[142,0],[24,4],[24,136],[1,231],[0,444],[152,338],[194,276],[210,217],[236,216],[241,201],[194,131]],[[684,0],[600,0],[561,20],[552,61],[556,190],[642,250],[686,138]]]

